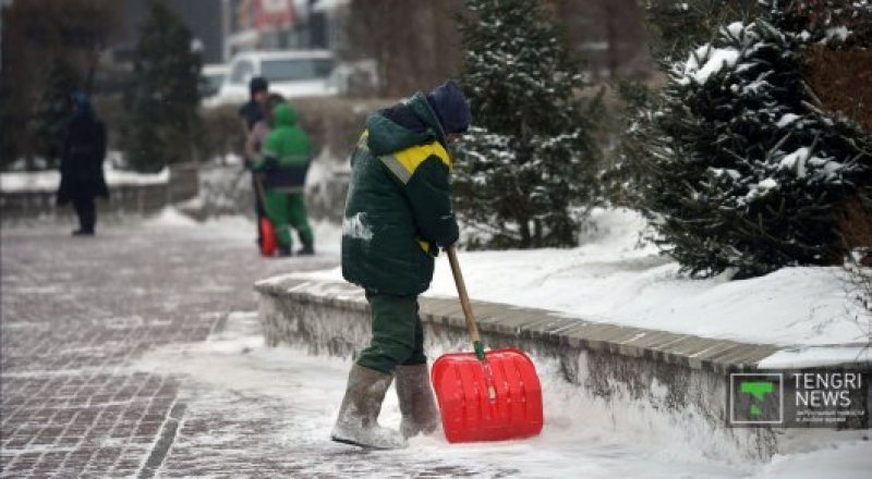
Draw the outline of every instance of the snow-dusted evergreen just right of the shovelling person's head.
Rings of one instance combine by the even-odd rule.
[[[541,0],[468,0],[461,84],[473,124],[458,146],[456,206],[471,246],[578,243],[597,197],[598,97]]]

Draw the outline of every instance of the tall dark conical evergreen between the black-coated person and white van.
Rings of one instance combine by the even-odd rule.
[[[157,171],[196,160],[201,142],[198,83],[203,60],[191,30],[165,0],[150,0],[134,61],[136,83],[125,98],[128,162]]]

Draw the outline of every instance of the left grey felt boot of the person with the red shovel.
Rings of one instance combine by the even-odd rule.
[[[378,426],[382,402],[392,379],[375,369],[352,366],[330,439],[379,450],[405,447],[405,440],[398,431]]]

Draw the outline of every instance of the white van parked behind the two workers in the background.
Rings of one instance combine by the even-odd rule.
[[[328,50],[244,51],[230,60],[229,73],[208,106],[241,105],[249,100],[249,82],[255,76],[269,81],[269,91],[286,98],[336,95],[329,81],[334,56]]]

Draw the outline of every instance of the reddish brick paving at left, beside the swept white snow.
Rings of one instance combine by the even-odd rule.
[[[264,274],[335,256],[267,261],[250,222],[3,226],[0,458],[3,477],[148,477],[190,378],[132,368],[146,352],[205,340],[252,308]],[[171,435],[171,434],[170,434]],[[171,441],[170,441],[171,443]]]

